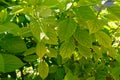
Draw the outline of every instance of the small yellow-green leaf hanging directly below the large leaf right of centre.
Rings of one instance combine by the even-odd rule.
[[[86,46],[79,45],[78,46],[78,51],[84,57],[89,57],[90,56],[90,48],[88,48]]]

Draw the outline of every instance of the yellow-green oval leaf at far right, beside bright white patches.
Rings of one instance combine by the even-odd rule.
[[[103,45],[106,48],[111,47],[112,40],[106,33],[99,31],[95,36],[100,45]]]

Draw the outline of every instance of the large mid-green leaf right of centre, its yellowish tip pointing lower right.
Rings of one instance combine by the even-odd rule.
[[[87,46],[89,48],[92,46],[91,36],[87,30],[81,30],[80,28],[78,28],[74,36],[75,39],[79,42],[79,44]]]

